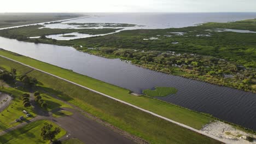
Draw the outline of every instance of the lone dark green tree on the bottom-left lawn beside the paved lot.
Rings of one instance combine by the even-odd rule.
[[[43,140],[50,140],[51,142],[57,134],[61,131],[60,128],[53,128],[52,124],[44,123],[44,126],[41,128],[41,136]]]

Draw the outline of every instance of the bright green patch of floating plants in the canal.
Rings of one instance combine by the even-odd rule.
[[[174,87],[155,87],[155,90],[144,89],[143,93],[149,97],[166,97],[169,94],[177,93],[177,89]]]

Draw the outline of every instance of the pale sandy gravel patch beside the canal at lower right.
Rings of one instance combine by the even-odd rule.
[[[201,131],[205,131],[208,134],[214,135],[226,141],[226,143],[239,143],[239,144],[252,144],[256,143],[256,140],[253,142],[249,142],[246,138],[254,137],[256,139],[256,135],[248,134],[242,130],[236,129],[232,127],[232,125],[223,123],[223,122],[212,122],[210,124],[205,125],[201,129]]]

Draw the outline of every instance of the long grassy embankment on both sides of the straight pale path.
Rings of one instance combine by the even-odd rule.
[[[129,94],[129,91],[126,89],[76,74],[72,71],[55,67],[54,65],[39,62],[28,57],[15,56],[13,53],[7,51],[0,51],[0,55],[16,59],[22,63],[59,75],[65,79],[127,101],[128,103],[158,113],[159,115],[171,118],[174,121],[190,125],[196,129],[200,129],[203,125],[213,120],[211,117],[172,104],[167,104],[163,101],[147,97],[135,97],[134,95]],[[0,67],[2,67],[2,65],[5,65],[5,67],[15,67],[17,70],[23,69],[24,67],[21,64],[0,58]],[[40,87],[44,88],[45,91],[55,93],[69,103],[79,106],[81,109],[113,124],[115,127],[142,137],[142,139],[145,139],[150,143],[218,143],[209,137],[194,133],[193,131],[179,127],[176,124],[164,121],[161,118],[121,104],[82,87],[72,85],[71,83],[57,79],[56,77],[36,70],[33,70],[28,75],[37,77],[37,80],[43,83]]]

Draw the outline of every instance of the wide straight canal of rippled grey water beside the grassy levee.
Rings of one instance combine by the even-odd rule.
[[[72,69],[136,93],[155,86],[176,87],[177,94],[159,99],[256,130],[256,94],[250,92],[159,73],[119,59],[79,52],[73,47],[26,43],[0,37],[0,48]]]

